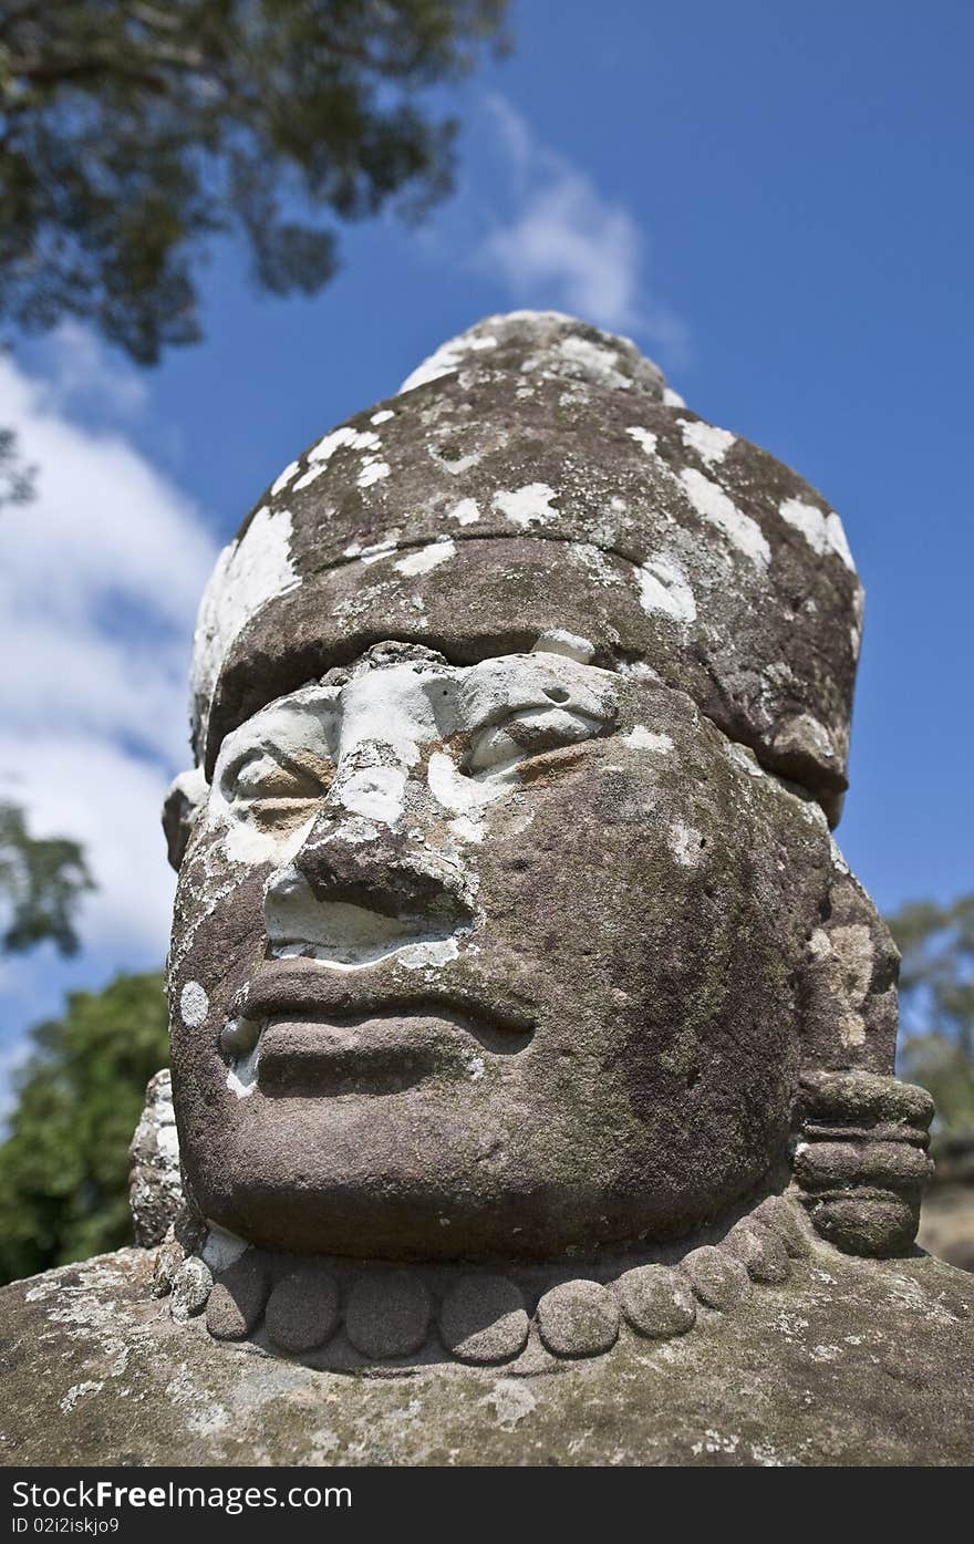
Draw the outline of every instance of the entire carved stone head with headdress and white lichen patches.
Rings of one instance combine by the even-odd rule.
[[[860,622],[821,496],[565,317],[480,323],[292,462],[204,598],[167,806],[202,1215],[553,1257],[793,1160],[823,1231],[906,1237],[903,1177],[851,1220],[835,1152],[895,1039],[830,837]]]

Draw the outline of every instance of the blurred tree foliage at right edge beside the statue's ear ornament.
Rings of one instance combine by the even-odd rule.
[[[937,1101],[940,1138],[974,1135],[974,894],[889,917],[903,954],[903,1075]]]

